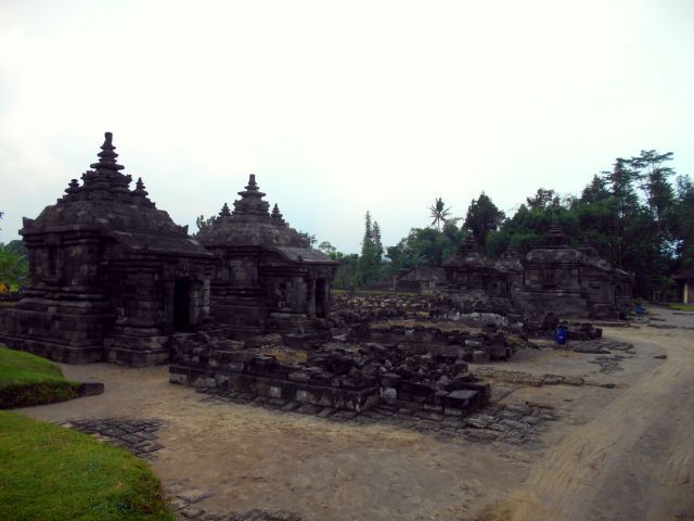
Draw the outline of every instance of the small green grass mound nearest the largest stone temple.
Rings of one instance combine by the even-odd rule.
[[[79,396],[79,382],[46,358],[0,346],[0,408],[64,402]]]

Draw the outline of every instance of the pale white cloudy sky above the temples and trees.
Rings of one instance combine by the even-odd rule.
[[[0,0],[0,241],[114,132],[195,230],[255,173],[356,252],[486,191],[512,212],[617,156],[694,175],[694,2]]]

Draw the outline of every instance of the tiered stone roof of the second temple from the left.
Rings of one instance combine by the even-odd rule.
[[[239,192],[234,211],[224,203],[215,221],[203,228],[196,239],[205,246],[245,247],[259,246],[279,252],[287,260],[332,263],[326,255],[310,247],[298,231],[291,228],[275,204],[270,215],[270,204],[264,201],[256,176],[250,174],[245,190]]]

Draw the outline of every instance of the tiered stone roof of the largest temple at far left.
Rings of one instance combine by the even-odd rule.
[[[24,219],[23,236],[64,229],[99,229],[105,234],[121,231],[132,233],[132,237],[147,234],[151,250],[209,255],[200,243],[190,242],[188,227],[176,225],[168,213],[156,208],[147,196],[142,178],[130,190],[132,177],[120,173],[124,166],[117,163],[118,154],[111,132],[105,134],[98,157],[99,161],[90,165],[92,169],[82,174],[81,185],[72,179],[65,195],[55,204],[43,208],[36,219]],[[158,239],[165,236],[166,240]],[[160,244],[157,246],[152,241]],[[175,245],[177,241],[184,244]]]

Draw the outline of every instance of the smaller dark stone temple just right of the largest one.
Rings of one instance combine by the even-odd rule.
[[[197,234],[217,257],[210,285],[214,319],[243,339],[267,331],[310,329],[331,313],[330,285],[338,263],[310,247],[272,213],[250,175],[233,212],[224,203]]]

